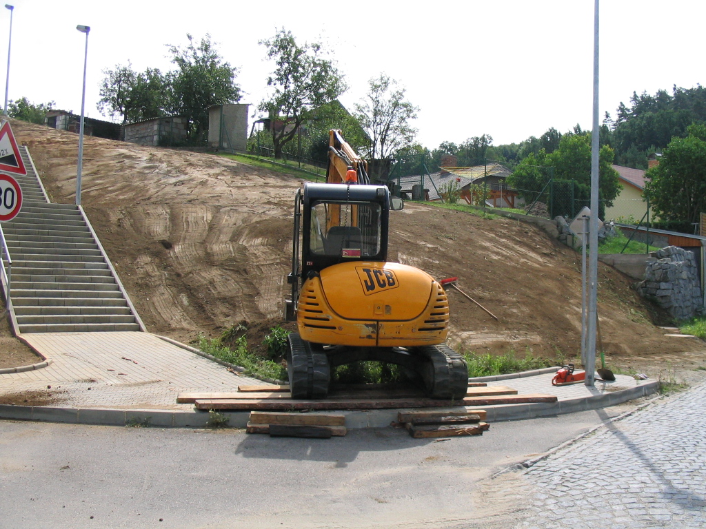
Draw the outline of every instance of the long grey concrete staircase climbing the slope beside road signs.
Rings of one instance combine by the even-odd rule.
[[[12,258],[10,303],[18,333],[144,331],[83,209],[49,203],[25,147],[20,213],[2,229]]]

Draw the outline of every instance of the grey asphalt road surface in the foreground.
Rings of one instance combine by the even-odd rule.
[[[628,408],[445,441],[0,421],[0,528],[509,527],[516,480],[484,478]]]

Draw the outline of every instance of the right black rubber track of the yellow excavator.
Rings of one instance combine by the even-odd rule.
[[[424,357],[419,375],[432,399],[463,399],[468,391],[468,367],[463,357],[445,343],[412,348]]]

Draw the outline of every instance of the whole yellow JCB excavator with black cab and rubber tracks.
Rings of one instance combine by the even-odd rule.
[[[329,133],[326,183],[306,183],[294,199],[292,298],[287,370],[294,399],[323,399],[330,368],[359,360],[416,372],[436,399],[465,396],[465,360],[444,341],[448,300],[426,272],[388,262],[390,209],[404,203],[371,185],[367,163]],[[301,236],[301,248],[299,240]]]

